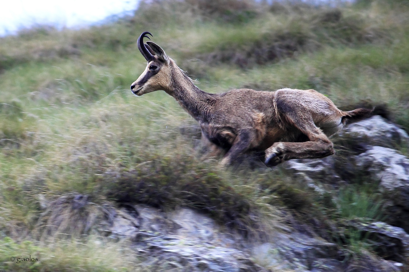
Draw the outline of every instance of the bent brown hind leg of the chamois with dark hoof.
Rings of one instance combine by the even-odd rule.
[[[308,120],[298,119],[298,122],[292,123],[296,128],[301,130],[310,141],[301,143],[274,143],[265,150],[265,164],[267,166],[276,166],[289,159],[320,159],[335,154],[334,144],[315,126],[312,118]]]

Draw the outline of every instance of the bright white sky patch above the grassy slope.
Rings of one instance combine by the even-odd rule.
[[[38,24],[79,27],[130,13],[139,0],[0,0],[0,36]]]

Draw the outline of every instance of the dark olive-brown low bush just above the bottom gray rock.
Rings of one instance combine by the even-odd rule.
[[[248,233],[254,202],[218,171],[202,168],[192,156],[148,157],[134,170],[112,169],[101,179],[104,195],[125,203],[146,203],[159,208],[189,206],[209,213],[230,228]],[[175,159],[177,158],[177,159]],[[200,167],[202,166],[202,167]]]

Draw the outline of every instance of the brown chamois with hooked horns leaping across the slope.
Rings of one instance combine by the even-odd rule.
[[[148,61],[145,71],[130,86],[143,95],[163,90],[195,118],[202,139],[226,153],[222,166],[240,163],[250,151],[265,151],[265,165],[289,159],[323,158],[335,153],[328,137],[347,123],[371,115],[371,109],[340,111],[328,97],[315,90],[283,88],[277,91],[236,89],[206,93],[193,84],[154,42],[143,39],[137,46]]]

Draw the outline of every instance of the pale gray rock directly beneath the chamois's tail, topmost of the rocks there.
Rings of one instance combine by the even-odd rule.
[[[379,115],[348,125],[339,132],[339,136],[374,146],[394,147],[409,143],[405,130]]]

